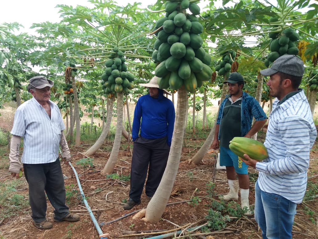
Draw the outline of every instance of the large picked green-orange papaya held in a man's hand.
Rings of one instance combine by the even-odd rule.
[[[267,149],[261,142],[246,137],[234,137],[230,141],[229,148],[234,154],[245,159],[244,154],[247,154],[252,159],[262,161],[268,158]]]

